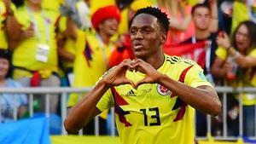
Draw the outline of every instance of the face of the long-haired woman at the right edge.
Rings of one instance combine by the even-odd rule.
[[[236,46],[239,51],[246,51],[250,47],[250,37],[247,26],[241,25],[235,35]]]

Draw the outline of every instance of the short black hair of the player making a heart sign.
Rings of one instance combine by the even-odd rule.
[[[167,14],[162,12],[159,8],[147,7],[147,8],[143,8],[143,9],[138,9],[136,14],[134,14],[134,16],[131,20],[131,23],[138,14],[151,14],[151,15],[153,15],[160,22],[160,24],[164,28],[165,32],[168,32],[169,25],[170,25],[169,19],[167,17]],[[130,26],[131,26],[131,23],[130,23]]]

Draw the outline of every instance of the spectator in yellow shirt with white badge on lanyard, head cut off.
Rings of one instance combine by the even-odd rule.
[[[14,78],[24,87],[59,87],[55,24],[59,14],[42,9],[41,0],[27,0],[7,23],[9,47],[13,50]],[[40,111],[45,111],[39,96]],[[57,112],[58,95],[50,95],[50,112]]]

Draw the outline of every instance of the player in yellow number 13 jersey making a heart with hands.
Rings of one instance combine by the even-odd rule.
[[[74,106],[65,128],[75,132],[110,107],[123,144],[193,144],[194,108],[221,110],[218,95],[195,62],[163,53],[169,29],[160,9],[139,9],[130,28],[136,56],[106,72]]]

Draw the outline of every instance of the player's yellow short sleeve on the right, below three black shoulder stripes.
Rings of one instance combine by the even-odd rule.
[[[197,64],[193,65],[187,72],[185,76],[185,84],[194,88],[201,85],[208,85],[212,87],[212,84],[207,81],[203,69]]]

